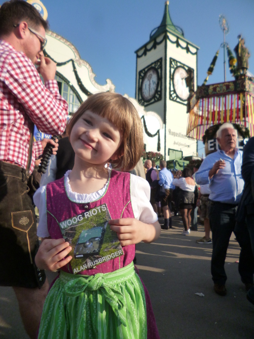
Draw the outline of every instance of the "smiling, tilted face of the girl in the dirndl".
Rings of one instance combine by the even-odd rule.
[[[70,136],[76,156],[93,165],[104,165],[118,158],[122,138],[107,119],[86,110],[72,128]]]

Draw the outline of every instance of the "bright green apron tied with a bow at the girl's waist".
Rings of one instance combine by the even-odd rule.
[[[110,273],[60,276],[46,298],[38,339],[146,339],[145,293],[133,262]]]

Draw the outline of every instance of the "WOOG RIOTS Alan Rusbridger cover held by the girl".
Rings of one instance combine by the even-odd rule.
[[[105,203],[59,223],[63,238],[72,246],[69,255],[74,274],[123,255],[109,220]]]

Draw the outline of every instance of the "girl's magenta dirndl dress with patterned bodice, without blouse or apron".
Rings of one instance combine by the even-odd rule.
[[[122,173],[114,170],[111,172],[106,192],[96,201],[89,203],[77,203],[71,201],[66,193],[65,178],[63,177],[47,184],[46,203],[47,226],[52,239],[62,238],[58,223],[73,218],[84,211],[89,211],[104,203],[108,206],[111,219],[134,218],[130,193],[130,173]],[[81,271],[79,274],[94,275],[97,273],[110,273],[128,266],[132,263],[135,256],[135,244],[122,246],[122,250],[122,256]],[[67,273],[73,273],[70,263],[63,266],[61,269]],[[143,285],[146,300],[147,338],[160,339],[148,291],[142,280],[141,283]]]

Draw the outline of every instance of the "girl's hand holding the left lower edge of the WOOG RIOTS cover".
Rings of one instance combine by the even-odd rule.
[[[40,269],[55,271],[71,261],[72,256],[65,258],[71,250],[72,246],[65,239],[45,239],[35,256],[35,263]]]

